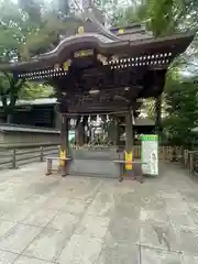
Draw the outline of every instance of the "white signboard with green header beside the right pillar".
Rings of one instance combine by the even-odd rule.
[[[142,172],[145,175],[158,175],[158,135],[144,134],[142,141]]]

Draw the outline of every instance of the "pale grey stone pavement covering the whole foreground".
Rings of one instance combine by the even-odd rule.
[[[0,172],[1,264],[198,264],[198,183],[162,164],[144,184]]]

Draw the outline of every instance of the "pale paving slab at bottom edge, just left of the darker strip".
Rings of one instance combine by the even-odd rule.
[[[102,248],[102,240],[88,235],[74,234],[59,255],[61,264],[95,264]]]

